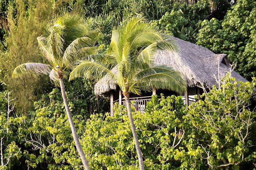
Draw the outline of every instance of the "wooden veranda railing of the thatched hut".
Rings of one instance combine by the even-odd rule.
[[[159,96],[159,97],[161,97],[161,96]],[[147,102],[149,102],[151,100],[151,98],[152,98],[152,96],[135,97],[135,98],[130,98],[130,101],[136,111],[143,113],[145,111]],[[184,100],[184,103],[185,103],[185,96],[182,96],[182,99]],[[119,102],[119,100],[113,101],[113,104],[115,102]],[[189,97],[188,98],[188,106],[191,105],[193,102],[196,102],[196,99]],[[121,104],[126,106],[125,99],[122,99]],[[174,106],[174,109],[175,109],[175,106]]]

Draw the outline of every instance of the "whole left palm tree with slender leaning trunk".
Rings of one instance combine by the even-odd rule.
[[[24,74],[27,76],[47,74],[56,86],[60,86],[73,139],[86,170],[90,168],[72,120],[63,78],[67,77],[68,74],[65,70],[72,67],[79,56],[95,54],[96,47],[94,45],[98,33],[98,30],[89,31],[85,20],[78,15],[66,14],[56,18],[53,23],[48,25],[45,37],[37,37],[42,56],[48,60],[49,64],[24,63],[17,66],[12,73],[12,77],[20,77]]]

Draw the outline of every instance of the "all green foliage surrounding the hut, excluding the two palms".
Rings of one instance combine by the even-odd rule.
[[[11,78],[19,64],[46,63],[36,38],[65,13],[84,15],[90,29],[101,29],[101,52],[109,49],[115,26],[143,14],[165,33],[227,53],[248,80],[256,76],[255,0],[0,0],[0,140],[4,164],[9,161],[0,169],[81,169],[60,90],[47,76]],[[146,169],[255,168],[256,113],[248,106],[255,79],[240,87],[230,78],[225,81],[188,111],[174,96],[152,97],[144,114],[133,110]],[[115,107],[115,117],[105,114],[109,100],[95,96],[94,84],[95,79],[86,78],[65,82],[91,168],[137,169],[124,107]],[[9,91],[15,98],[9,108],[15,107],[7,121]],[[175,127],[185,131],[176,147]]]

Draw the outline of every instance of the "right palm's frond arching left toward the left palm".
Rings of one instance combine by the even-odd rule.
[[[103,63],[91,60],[79,60],[78,66],[75,67],[69,76],[69,81],[78,77],[88,76],[93,77],[96,81],[104,77],[107,73],[112,77],[115,74]]]

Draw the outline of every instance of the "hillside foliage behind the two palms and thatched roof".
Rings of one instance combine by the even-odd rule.
[[[16,110],[20,113],[28,113],[33,109],[33,101],[38,96],[52,90],[53,86],[45,88],[49,86],[45,77],[33,81],[29,78],[14,80],[11,79],[11,72],[21,63],[44,62],[39,55],[36,37],[43,34],[46,23],[54,19],[54,16],[66,12],[84,14],[90,29],[102,30],[103,41],[100,42],[100,48],[103,52],[108,48],[112,28],[122,25],[123,21],[134,14],[142,13],[152,24],[168,34],[197,42],[214,52],[229,54],[231,63],[239,63],[239,73],[250,79],[255,76],[255,2],[239,0],[224,20],[217,22],[213,19],[209,23],[207,20],[203,21],[213,17],[223,19],[234,2],[236,1],[1,0],[1,79],[13,91]]]

